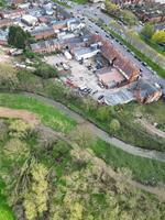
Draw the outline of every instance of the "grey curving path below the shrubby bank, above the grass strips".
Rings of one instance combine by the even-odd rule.
[[[140,148],[130,144],[127,144],[119,139],[111,138],[107,132],[102,131],[99,129],[97,125],[94,123],[89,122],[88,120],[84,119],[78,113],[72,111],[68,109],[66,106],[52,100],[51,98],[46,98],[36,94],[30,94],[30,92],[23,92],[25,96],[36,98],[37,100],[41,100],[47,105],[51,105],[52,107],[55,107],[59,111],[64,112],[66,116],[75,119],[77,123],[87,123],[87,125],[92,130],[94,134],[96,134],[99,139],[106,141],[109,144],[112,144],[113,146],[123,150],[124,152],[135,155],[135,156],[141,156],[141,157],[146,157],[146,158],[152,158],[160,162],[165,162],[165,153],[162,152],[156,152],[156,151],[150,151],[150,150],[144,150]]]

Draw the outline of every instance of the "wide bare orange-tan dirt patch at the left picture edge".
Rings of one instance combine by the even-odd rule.
[[[0,107],[0,118],[22,119],[33,125],[37,125],[40,123],[40,119],[32,112],[3,107]]]

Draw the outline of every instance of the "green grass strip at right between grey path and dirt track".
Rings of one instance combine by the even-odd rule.
[[[91,145],[91,148],[98,157],[102,158],[114,169],[122,167],[131,169],[133,179],[138,182],[148,182],[150,184],[165,183],[165,163],[128,154],[102,140],[97,140]]]

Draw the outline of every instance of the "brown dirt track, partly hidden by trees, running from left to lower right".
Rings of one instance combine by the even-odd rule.
[[[69,139],[67,139],[61,132],[56,132],[53,129],[41,124],[38,118],[36,117],[36,114],[34,114],[32,112],[29,112],[26,110],[15,110],[15,109],[0,107],[0,117],[2,117],[2,118],[15,118],[15,119],[19,118],[19,119],[23,119],[28,123],[34,124],[35,128],[37,128],[37,130],[40,132],[44,132],[44,133],[46,132],[46,133],[50,133],[52,135],[58,136],[62,140],[64,140],[67,143],[69,143],[69,145],[72,145],[76,150],[79,147],[75,142],[72,142]],[[94,161],[95,163],[99,164],[99,166],[101,166],[111,177],[113,177],[116,180],[119,180],[118,177],[120,176],[120,174],[116,173],[101,158],[98,158],[98,157],[96,157],[94,155],[90,155],[91,154],[90,151],[87,150],[86,153],[88,154],[88,157],[90,158],[90,161]],[[140,183],[138,183],[135,180],[132,180],[132,179],[125,179],[125,182],[128,182],[129,184],[131,184],[135,188],[139,188],[141,190],[144,190],[144,191],[147,191],[147,193],[156,195],[160,198],[160,200],[163,200],[163,201],[165,200],[165,189],[163,187],[144,186],[143,184],[140,184]]]

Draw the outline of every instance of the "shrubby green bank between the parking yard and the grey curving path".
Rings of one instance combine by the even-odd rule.
[[[157,139],[157,136],[152,135],[136,122],[138,119],[136,116],[141,114],[141,110],[143,109],[143,108],[141,109],[139,105],[130,103],[125,106],[119,106],[116,108],[99,107],[97,102],[92,101],[91,99],[88,99],[87,97],[80,98],[77,94],[73,92],[68,87],[64,86],[56,79],[42,79],[41,77],[37,77],[32,73],[25,70],[20,70],[16,75],[14,74],[14,76],[16,79],[15,80],[16,84],[14,84],[15,86],[13,88],[10,87],[10,78],[9,78],[9,85],[7,80],[6,86],[1,88],[7,90],[9,90],[8,88],[10,88],[13,91],[21,90],[21,91],[36,92],[43,96],[51,97],[68,106],[74,111],[79,112],[85,118],[91,120],[101,129],[106,130],[108,133],[111,133],[111,135],[114,135],[127,143],[131,143],[135,146],[141,146],[144,148],[164,151],[165,140]],[[154,105],[156,103],[151,105],[153,109]],[[155,117],[157,118],[158,118],[158,109],[161,110],[162,107],[164,108],[163,102],[158,102],[158,105],[160,108],[157,107],[157,112],[155,112]],[[46,118],[48,116],[46,116]],[[110,123],[113,119],[117,119],[119,121],[120,129],[113,130],[113,132],[111,132]],[[52,122],[51,118],[48,120],[51,123]],[[157,122],[160,127],[162,127],[161,124],[164,123],[164,120],[162,121],[162,123],[160,123],[160,121],[158,120],[156,121],[155,119],[155,122]],[[59,121],[56,122],[56,127],[58,124],[58,127],[62,127],[63,130],[63,124],[61,125],[61,123],[62,122]]]

